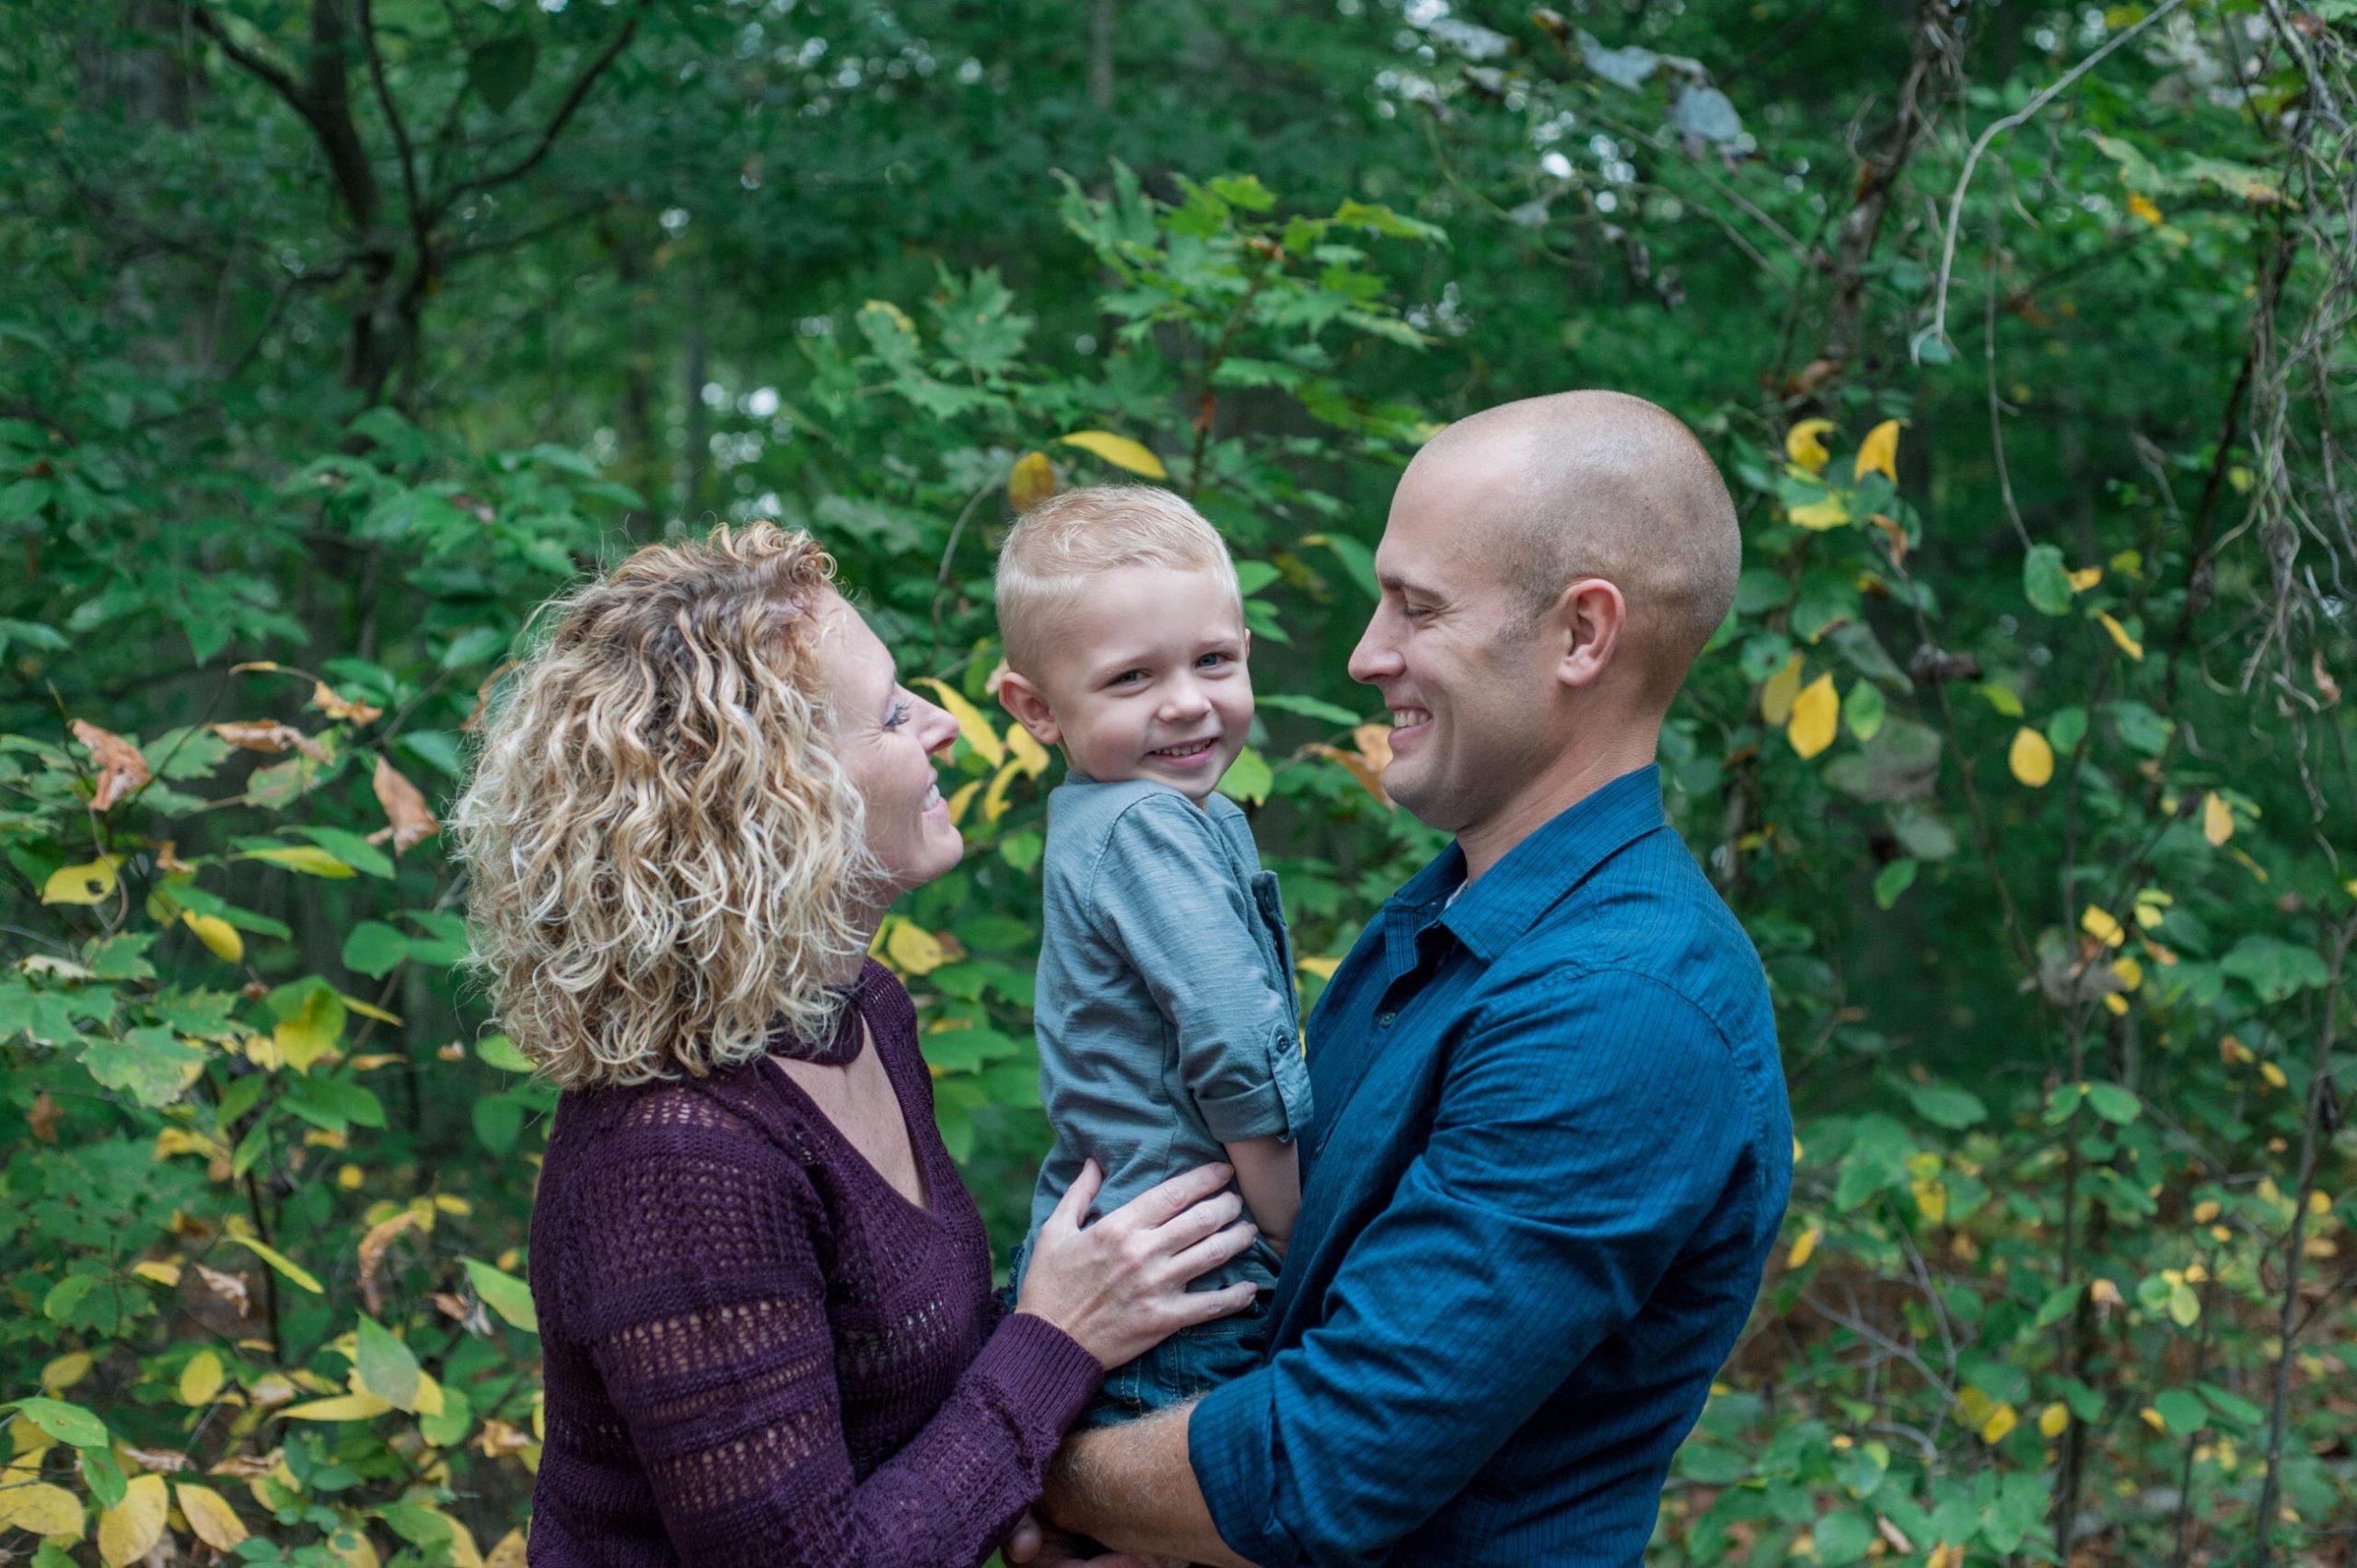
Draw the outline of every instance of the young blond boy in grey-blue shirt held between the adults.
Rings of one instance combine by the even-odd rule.
[[[1108,1427],[1254,1365],[1301,1207],[1294,1137],[1310,1087],[1285,905],[1244,813],[1214,795],[1252,726],[1252,639],[1226,542],[1148,486],[1035,507],[999,549],[997,597],[999,700],[1068,764],[1047,802],[1035,1007],[1056,1146],[1030,1233],[1087,1158],[1105,1172],[1101,1214],[1226,1160],[1261,1231],[1195,1280],[1252,1280],[1259,1304],[1115,1368],[1080,1417],[1080,1429]],[[1021,1266],[1018,1254],[1018,1278]]]

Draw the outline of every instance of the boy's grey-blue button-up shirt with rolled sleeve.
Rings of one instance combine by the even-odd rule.
[[[1292,943],[1275,872],[1235,802],[1068,773],[1047,802],[1039,1099],[1056,1146],[1032,1226],[1094,1158],[1096,1214],[1209,1160],[1296,1137],[1310,1115]],[[1025,1257],[1030,1245],[1025,1243]],[[1275,1283],[1256,1243],[1195,1280]]]

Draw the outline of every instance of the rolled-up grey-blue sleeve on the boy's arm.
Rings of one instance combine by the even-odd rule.
[[[1178,1073],[1221,1144],[1299,1134],[1308,1070],[1292,997],[1270,983],[1219,830],[1186,797],[1127,806],[1089,884],[1110,931],[1178,1037]]]

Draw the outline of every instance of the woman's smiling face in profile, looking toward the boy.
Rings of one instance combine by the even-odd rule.
[[[891,653],[858,611],[830,594],[820,660],[834,684],[834,755],[867,802],[867,849],[891,894],[943,875],[966,854],[933,776],[957,719],[900,686]]]

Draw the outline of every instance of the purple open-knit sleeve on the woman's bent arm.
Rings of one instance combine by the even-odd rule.
[[[568,1287],[679,1561],[973,1568],[990,1556],[1039,1495],[1096,1361],[1047,1320],[1011,1316],[931,1422],[856,1481],[801,1167],[719,1127],[615,1129],[599,1153],[577,1188]]]

